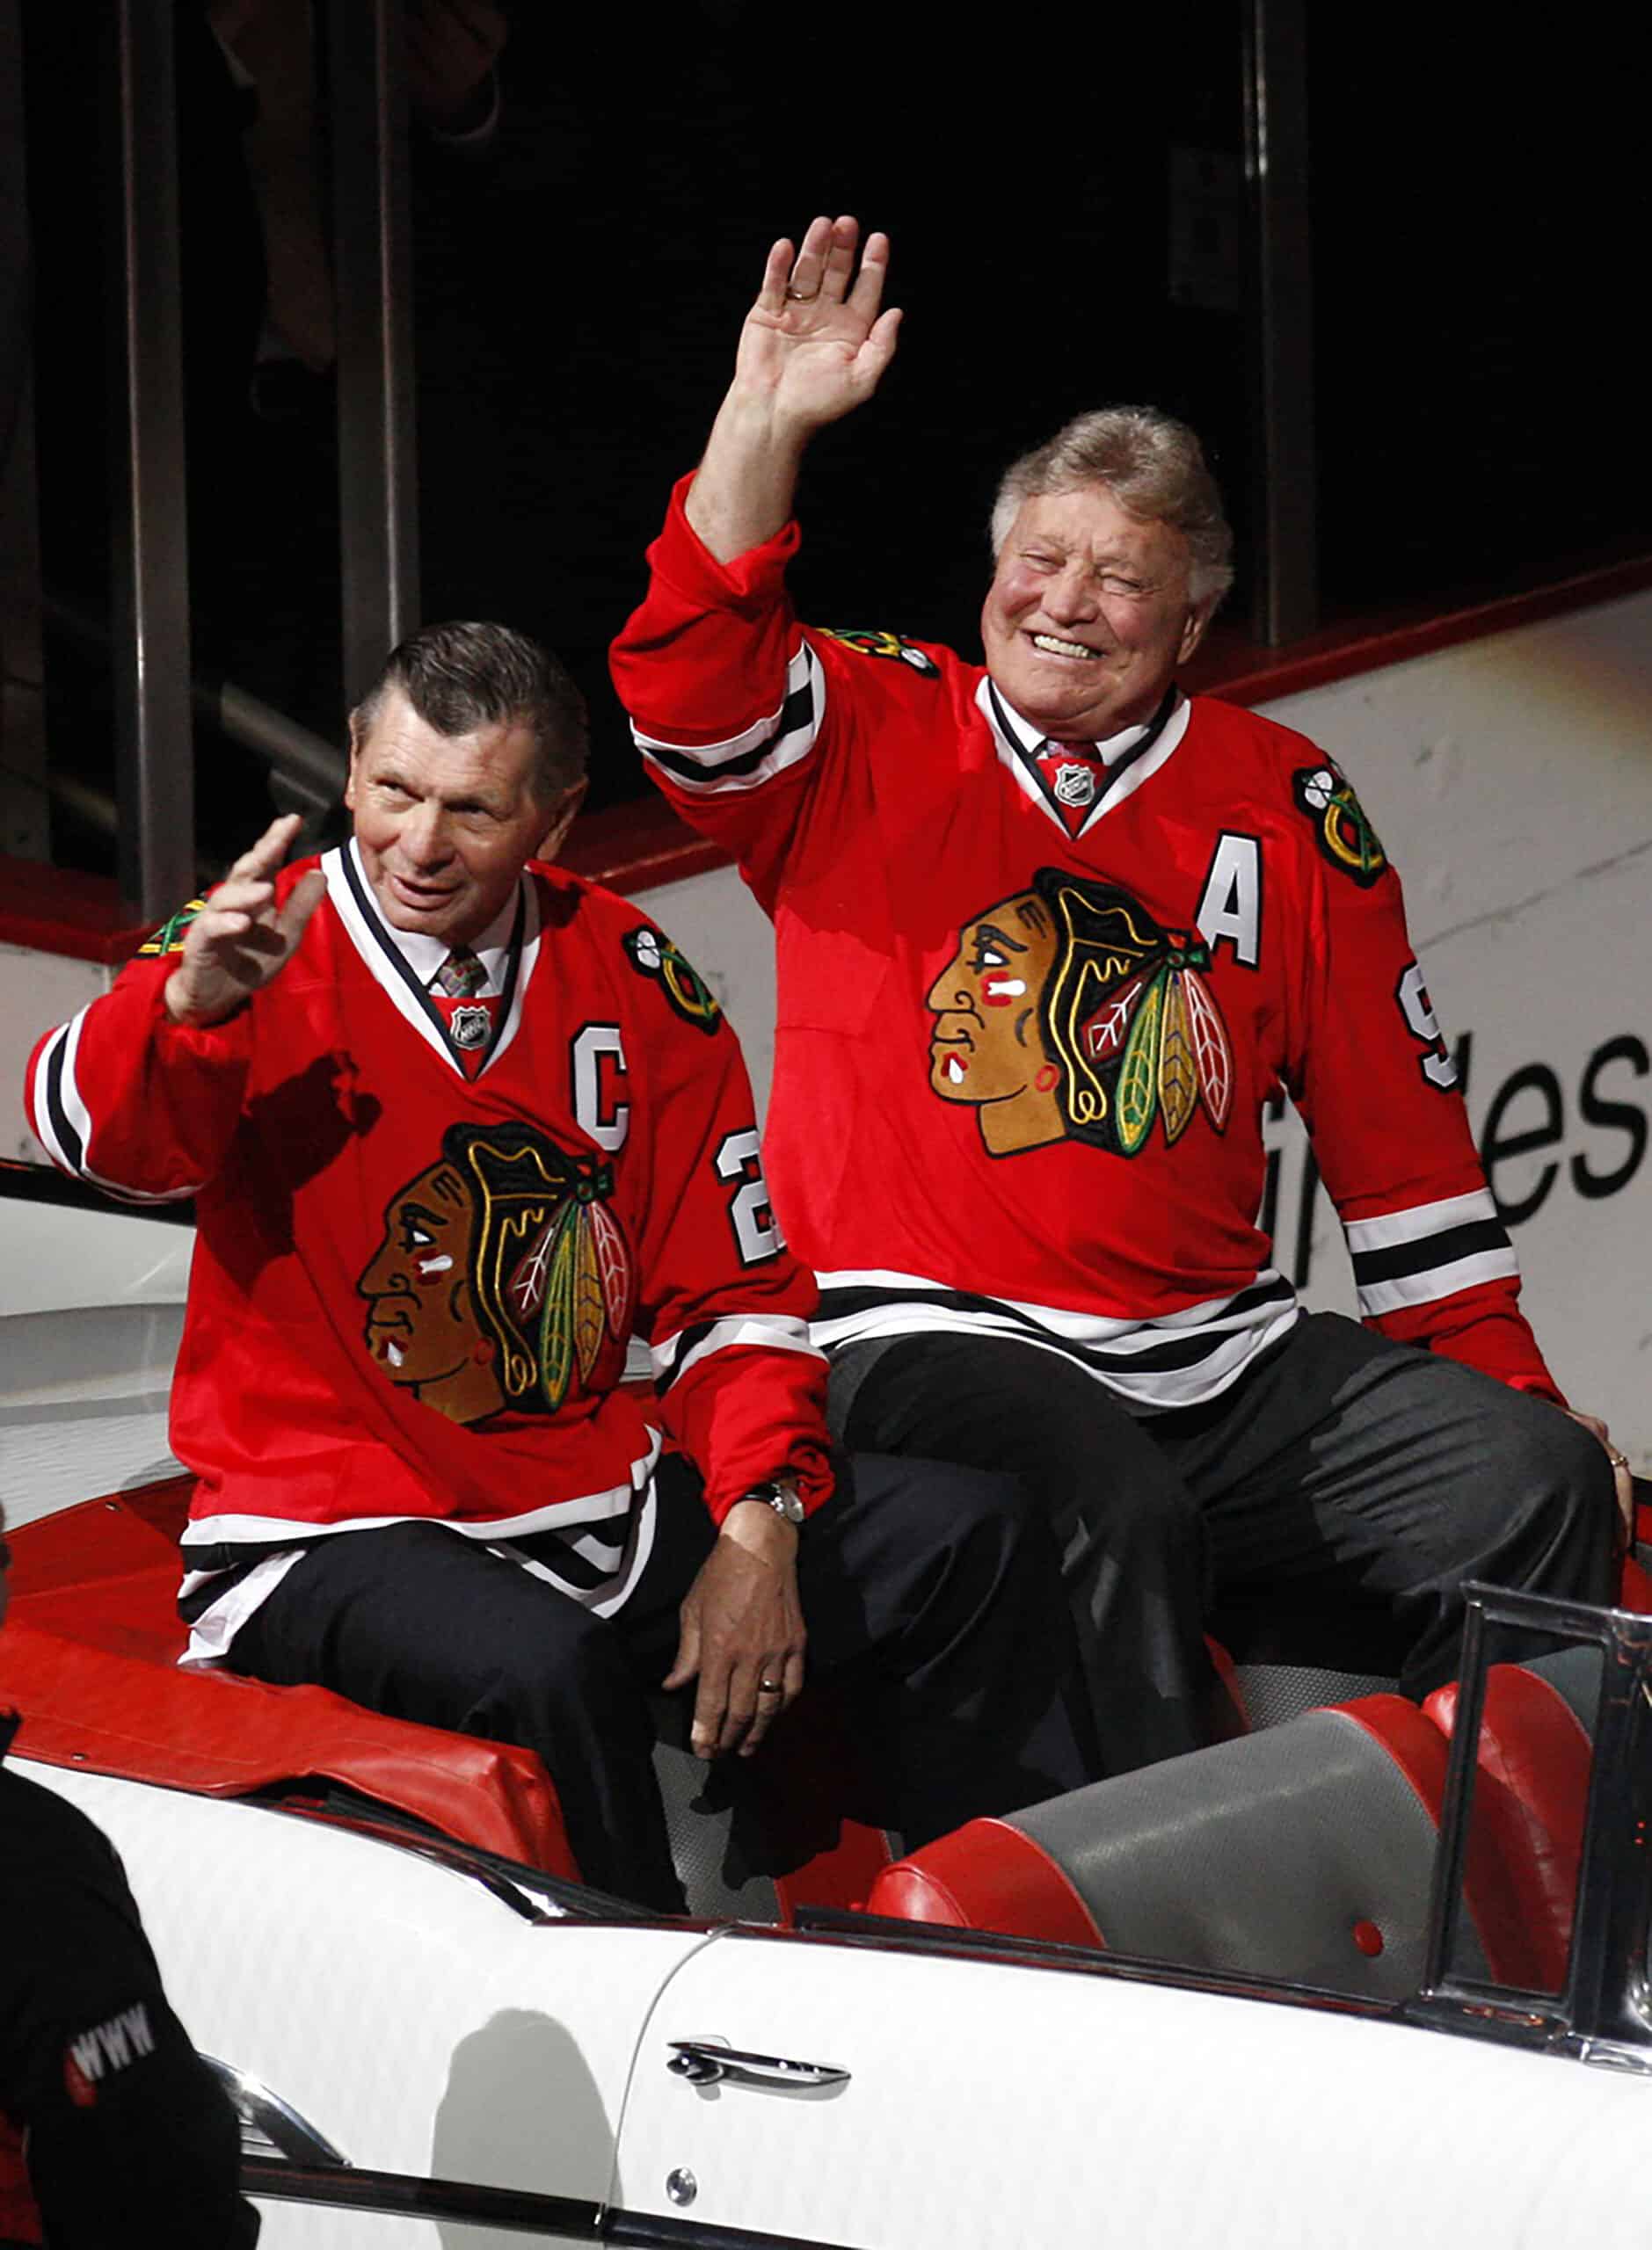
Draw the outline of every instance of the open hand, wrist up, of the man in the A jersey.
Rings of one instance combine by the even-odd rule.
[[[858,241],[853,218],[815,218],[797,250],[774,243],[745,315],[736,387],[763,394],[799,432],[871,398],[896,356],[900,313],[882,310],[889,236],[867,236],[860,268]]]

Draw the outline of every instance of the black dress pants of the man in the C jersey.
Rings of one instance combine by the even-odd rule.
[[[587,1883],[682,1912],[648,1696],[716,1530],[682,1460],[655,1478],[648,1562],[612,1618],[441,1523],[317,1539],[230,1649],[387,1712],[538,1750]],[[876,1712],[878,1816],[925,1843],[1098,1775],[1053,1539],[1008,1476],[837,1460],[799,1534],[808,1667]],[[693,1690],[684,1690],[693,1694]]]

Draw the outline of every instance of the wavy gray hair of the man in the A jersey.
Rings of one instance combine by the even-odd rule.
[[[993,554],[1022,502],[1105,484],[1125,515],[1168,524],[1188,542],[1188,596],[1215,603],[1233,585],[1233,533],[1193,430],[1159,407],[1098,407],[1004,470],[993,502]]]

